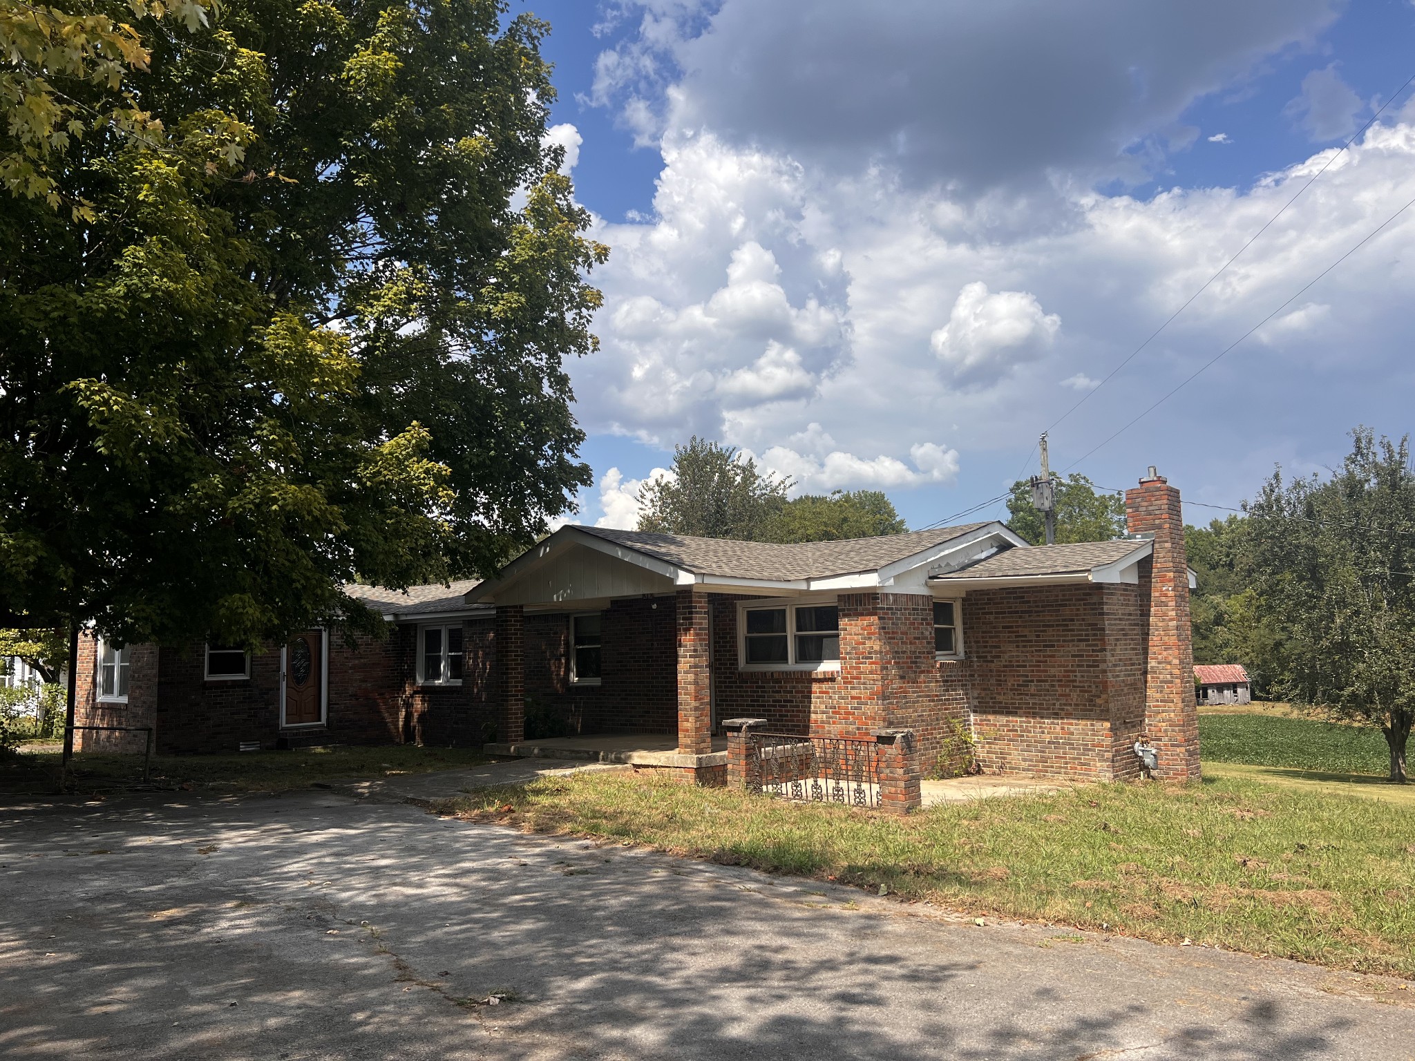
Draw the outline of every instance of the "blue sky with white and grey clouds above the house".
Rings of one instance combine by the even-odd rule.
[[[1409,0],[512,10],[553,27],[556,134],[611,246],[604,348],[572,375],[577,519],[620,525],[693,431],[799,489],[883,488],[911,526],[1000,494],[1415,74]],[[1408,100],[1056,427],[1053,467],[1415,198]],[[1075,470],[1156,464],[1234,504],[1357,423],[1407,431],[1412,235],[1402,215]]]

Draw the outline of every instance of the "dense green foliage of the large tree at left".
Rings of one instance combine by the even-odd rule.
[[[0,129],[40,190],[0,194],[0,608],[253,644],[490,573],[589,482],[563,362],[608,252],[542,146],[543,24],[120,7],[0,95],[68,137]]]

